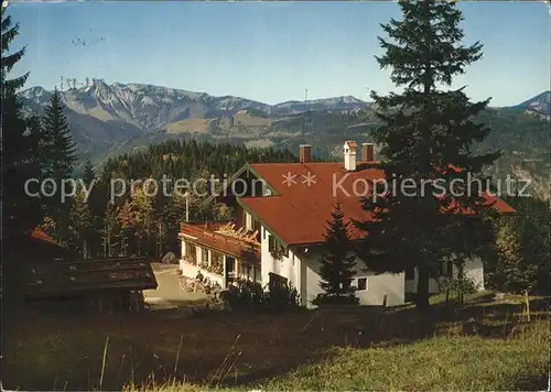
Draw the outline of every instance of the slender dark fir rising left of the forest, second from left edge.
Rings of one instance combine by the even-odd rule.
[[[43,175],[55,183],[56,193],[45,198],[46,214],[56,222],[57,230],[52,235],[64,242],[69,236],[68,219],[72,199],[62,199],[62,183],[73,175],[77,161],[75,142],[65,117],[65,106],[61,95],[54,91],[42,119],[42,135],[40,145]],[[53,189],[48,189],[53,192]],[[68,189],[71,190],[71,189]]]

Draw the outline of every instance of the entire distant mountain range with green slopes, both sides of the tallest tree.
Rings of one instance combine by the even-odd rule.
[[[28,115],[44,112],[53,91],[32,87],[20,92]],[[91,85],[61,92],[82,156],[96,165],[110,156],[173,139],[194,138],[298,149],[311,143],[322,157],[341,154],[345,139],[369,140],[379,124],[369,102],[345,96],[268,105],[251,99],[194,92],[144,84]],[[482,149],[504,152],[499,167],[522,173],[549,196],[549,120],[551,91],[480,116],[494,132]]]

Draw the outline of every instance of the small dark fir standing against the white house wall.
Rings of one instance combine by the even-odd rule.
[[[325,293],[317,296],[315,304],[353,304],[358,300],[354,295],[352,277],[355,275],[356,258],[352,252],[348,222],[344,220],[341,204],[336,204],[327,221],[325,237],[326,250],[320,260],[320,286]]]

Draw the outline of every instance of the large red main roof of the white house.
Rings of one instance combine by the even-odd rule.
[[[377,162],[359,162],[357,170],[347,172],[341,162],[324,163],[258,163],[251,168],[258,173],[279,195],[239,198],[241,205],[274,232],[287,244],[320,243],[324,241],[327,220],[334,204],[338,200],[347,220],[369,220],[371,214],[361,208],[355,196],[354,182],[358,178],[375,182],[383,178],[383,171]],[[310,187],[307,176],[310,173]],[[294,183],[283,183],[287,176]],[[314,183],[315,182],[315,183]],[[334,185],[342,184],[342,188]],[[365,182],[357,182],[356,192],[363,195]],[[366,192],[367,194],[367,192]],[[497,197],[494,208],[503,213],[515,211]],[[359,239],[365,232],[349,225],[350,237]]]

